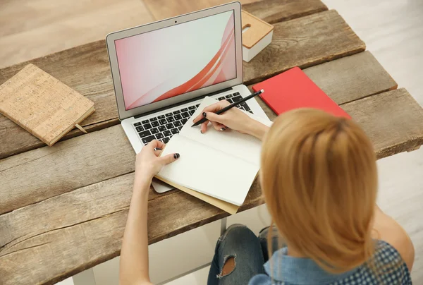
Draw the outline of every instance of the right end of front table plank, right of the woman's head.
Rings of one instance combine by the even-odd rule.
[[[423,109],[400,88],[342,105],[372,140],[378,159],[423,144]]]

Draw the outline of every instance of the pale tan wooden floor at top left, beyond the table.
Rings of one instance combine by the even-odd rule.
[[[13,0],[0,4],[0,67],[152,22],[140,0]]]

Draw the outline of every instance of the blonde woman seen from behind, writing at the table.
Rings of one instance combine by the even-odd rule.
[[[202,116],[218,131],[263,140],[260,182],[273,222],[259,237],[230,226],[216,244],[208,284],[411,284],[413,245],[376,206],[376,158],[356,123],[298,109],[269,130],[238,109],[214,114],[227,105],[218,102]],[[158,157],[154,147],[164,145],[151,142],[137,154],[121,284],[149,284],[148,189],[154,174],[178,159]]]

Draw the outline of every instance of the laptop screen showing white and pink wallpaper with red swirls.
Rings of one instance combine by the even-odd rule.
[[[233,11],[115,41],[125,109],[236,78]]]

